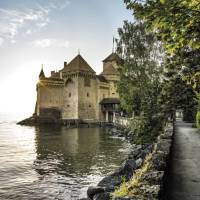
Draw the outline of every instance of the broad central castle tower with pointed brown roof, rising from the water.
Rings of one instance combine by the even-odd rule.
[[[96,119],[96,73],[77,55],[62,70],[64,86],[64,119]]]

